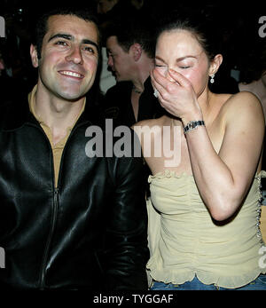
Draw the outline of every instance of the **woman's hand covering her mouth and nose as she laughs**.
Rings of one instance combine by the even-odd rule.
[[[151,72],[153,88],[158,91],[160,105],[169,114],[180,118],[184,125],[202,119],[202,113],[192,83],[180,73],[170,69],[168,78],[154,68]]]

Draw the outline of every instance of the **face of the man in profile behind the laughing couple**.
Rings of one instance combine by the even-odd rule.
[[[134,73],[134,61],[131,52],[124,51],[117,42],[116,36],[110,36],[106,41],[108,66],[112,68],[116,81],[130,81]]]

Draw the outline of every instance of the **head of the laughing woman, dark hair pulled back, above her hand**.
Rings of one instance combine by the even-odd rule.
[[[157,33],[155,68],[170,79],[169,70],[184,75],[199,98],[223,61],[219,36],[200,14],[176,14],[164,20]]]

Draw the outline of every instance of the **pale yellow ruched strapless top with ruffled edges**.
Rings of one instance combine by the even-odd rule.
[[[205,284],[239,288],[266,273],[260,232],[261,177],[254,178],[237,214],[215,222],[193,176],[166,170],[150,176],[147,201],[150,279],[182,284],[197,275]]]

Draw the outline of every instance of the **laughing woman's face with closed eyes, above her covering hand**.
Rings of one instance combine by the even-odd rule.
[[[165,31],[159,36],[155,66],[169,80],[169,69],[184,75],[192,83],[197,97],[206,89],[209,61],[198,40],[187,30]]]

